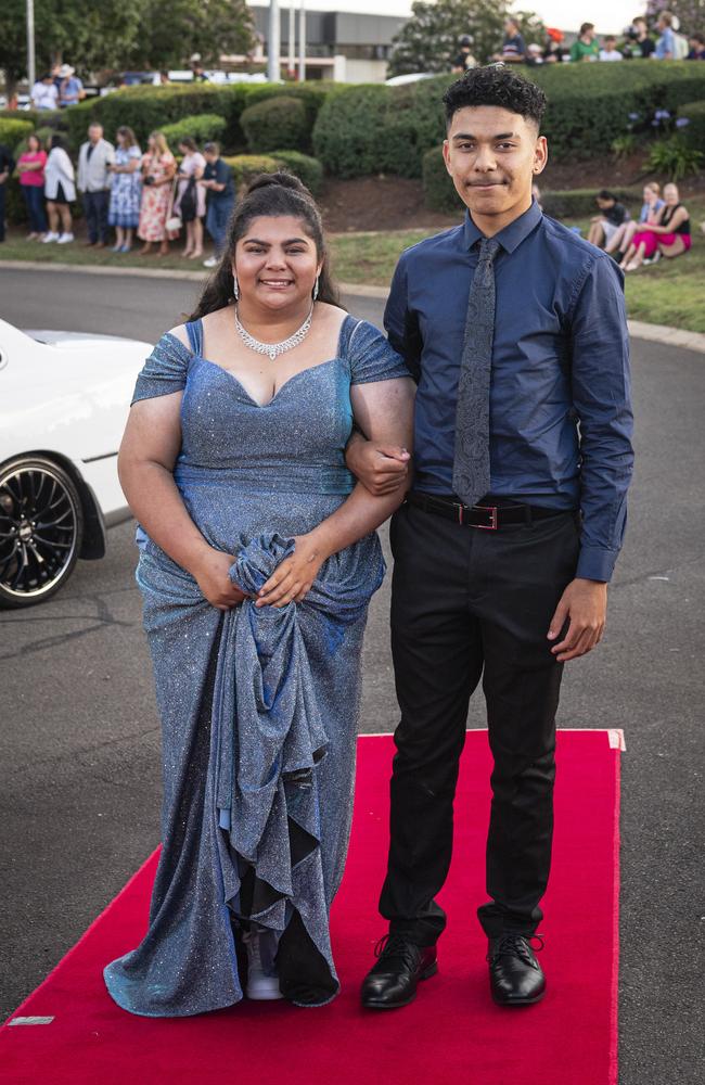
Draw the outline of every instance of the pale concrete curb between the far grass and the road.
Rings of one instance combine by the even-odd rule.
[[[40,260],[2,260],[0,259],[0,270],[2,268],[15,269],[18,271],[69,271],[77,275],[106,275],[106,276],[131,276],[137,279],[182,279],[187,282],[203,282],[207,278],[207,271],[179,271],[170,268],[114,268],[104,265],[91,264],[44,264]],[[362,286],[357,283],[341,282],[338,288],[342,294],[348,297],[374,297],[384,301],[388,294],[386,286]],[[629,334],[633,339],[646,340],[650,343],[664,343],[666,346],[679,346],[687,350],[695,350],[697,354],[705,354],[705,335],[698,332],[682,331],[679,328],[669,328],[667,324],[648,324],[641,320],[629,321]]]

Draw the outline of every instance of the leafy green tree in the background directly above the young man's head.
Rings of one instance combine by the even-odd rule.
[[[484,64],[501,47],[504,20],[520,24],[527,43],[541,40],[543,25],[530,12],[510,12],[504,0],[414,0],[411,18],[393,39],[389,75],[448,72],[463,35],[473,39],[472,52]]]

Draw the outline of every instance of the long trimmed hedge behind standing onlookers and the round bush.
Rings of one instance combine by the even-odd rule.
[[[294,86],[245,82],[221,86],[200,82],[169,87],[124,87],[104,98],[89,99],[62,112],[66,115],[74,150],[78,150],[86,139],[91,120],[100,120],[106,138],[112,141],[117,128],[127,125],[143,145],[150,132],[164,125],[182,120],[183,117],[209,113],[225,117],[222,141],[228,151],[235,151],[246,144],[240,117],[248,105],[281,95],[300,99],[310,131],[328,93],[328,85],[320,82]]]

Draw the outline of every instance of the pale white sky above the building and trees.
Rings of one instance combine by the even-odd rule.
[[[260,0],[261,2],[261,0]],[[298,0],[294,0],[298,8]],[[280,7],[289,7],[289,0],[280,0]],[[374,15],[409,15],[411,0],[306,0],[309,10],[319,11],[363,11]],[[521,0],[518,10],[536,11],[547,26],[557,26],[562,30],[577,30],[580,23],[594,23],[600,34],[618,34],[628,26],[634,15],[646,8],[644,0]]]

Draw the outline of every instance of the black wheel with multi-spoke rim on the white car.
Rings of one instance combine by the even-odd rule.
[[[67,472],[41,456],[0,467],[0,607],[34,607],[74,571],[84,510]]]

